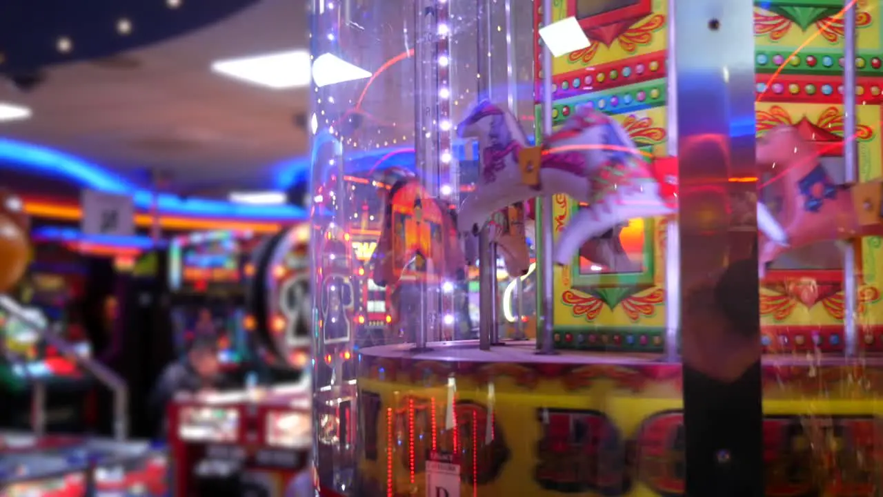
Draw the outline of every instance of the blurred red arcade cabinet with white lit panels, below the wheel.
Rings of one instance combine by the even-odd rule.
[[[304,382],[177,398],[170,405],[173,494],[282,497],[309,464],[310,405]]]

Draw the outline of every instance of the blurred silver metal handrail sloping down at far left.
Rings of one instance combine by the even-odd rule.
[[[70,343],[58,338],[55,333],[49,332],[46,326],[28,316],[18,302],[4,294],[0,294],[0,308],[3,308],[34,332],[39,333],[49,345],[55,347],[64,356],[72,358],[75,363],[98,379],[99,383],[109,388],[114,395],[114,438],[121,441],[126,440],[129,435],[129,387],[125,384],[125,380],[91,357],[80,356]]]

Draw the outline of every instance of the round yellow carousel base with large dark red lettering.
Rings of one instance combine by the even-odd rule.
[[[453,457],[460,495],[683,493],[680,364],[539,356],[532,341],[412,348],[359,351],[358,495],[427,495],[430,453]],[[764,371],[766,494],[872,494],[859,487],[879,481],[883,365],[771,358]],[[826,461],[847,470],[819,478]]]

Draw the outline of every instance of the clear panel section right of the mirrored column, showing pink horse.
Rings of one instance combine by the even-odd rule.
[[[879,5],[756,5],[760,200],[796,242],[760,285],[766,492],[876,495]]]

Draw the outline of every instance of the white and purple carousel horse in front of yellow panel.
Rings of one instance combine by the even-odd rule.
[[[658,181],[614,119],[579,108],[540,148],[530,147],[508,109],[482,102],[458,127],[479,141],[479,184],[457,211],[460,233],[477,233],[490,213],[540,195],[588,203],[570,218],[555,245],[556,264],[570,264],[586,241],[634,218],[671,214]]]

